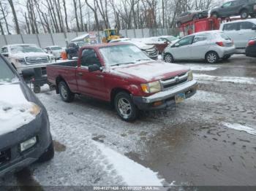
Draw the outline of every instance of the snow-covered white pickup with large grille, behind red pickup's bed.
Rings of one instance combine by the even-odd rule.
[[[10,44],[1,48],[1,54],[22,74],[24,69],[44,68],[55,62],[53,55],[34,44]]]

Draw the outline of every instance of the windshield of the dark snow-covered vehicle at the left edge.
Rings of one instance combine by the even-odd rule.
[[[7,63],[0,57],[0,85],[17,82],[16,74],[7,66]]]

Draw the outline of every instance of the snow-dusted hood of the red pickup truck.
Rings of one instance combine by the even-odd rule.
[[[140,79],[143,82],[153,82],[159,79],[168,79],[178,74],[189,71],[188,68],[175,64],[160,61],[150,61],[128,66],[118,66],[112,69],[113,73],[121,76]]]

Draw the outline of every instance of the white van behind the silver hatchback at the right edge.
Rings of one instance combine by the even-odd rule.
[[[249,39],[256,36],[256,19],[236,20],[222,23],[220,30],[233,39],[237,52],[244,53]]]

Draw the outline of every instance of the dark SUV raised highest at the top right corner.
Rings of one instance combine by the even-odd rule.
[[[256,16],[256,0],[236,0],[228,1],[221,7],[211,9],[211,17],[231,17],[240,15],[246,19]]]

